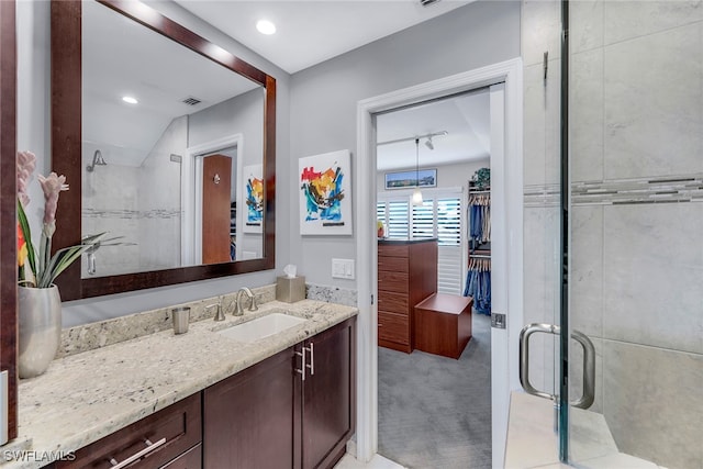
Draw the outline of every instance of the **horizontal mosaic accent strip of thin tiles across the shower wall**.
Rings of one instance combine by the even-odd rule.
[[[558,206],[559,185],[525,186],[525,206]],[[571,183],[571,205],[703,202],[703,174]]]

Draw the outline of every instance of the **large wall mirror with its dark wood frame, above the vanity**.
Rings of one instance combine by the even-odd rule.
[[[65,300],[274,268],[276,81],[137,1],[52,2]],[[80,110],[78,112],[77,110]]]

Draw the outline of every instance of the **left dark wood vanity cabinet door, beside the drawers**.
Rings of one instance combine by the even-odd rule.
[[[289,348],[205,389],[204,468],[292,467],[293,375]]]

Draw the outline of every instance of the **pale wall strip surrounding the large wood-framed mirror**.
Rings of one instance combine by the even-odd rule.
[[[289,75],[178,4],[154,2],[153,5],[188,29],[276,77],[276,165],[279,174],[287,175],[290,167]],[[49,29],[49,2],[18,2],[18,147],[36,153],[37,174],[47,172],[51,165]],[[64,326],[212,297],[236,290],[242,286],[256,287],[275,282],[276,273],[282,271],[282,266],[289,263],[290,257],[290,243],[286,232],[290,225],[291,201],[284,196],[290,192],[289,179],[277,178],[276,188],[278,193],[283,194],[276,201],[276,223],[279,234],[276,239],[276,270],[65,302]],[[32,219],[33,226],[37,226],[33,233],[38,242],[42,194],[36,182],[32,185],[30,196],[35,202],[30,205],[27,215]],[[62,208],[59,200],[58,210],[60,211]],[[57,230],[60,230],[60,226]]]

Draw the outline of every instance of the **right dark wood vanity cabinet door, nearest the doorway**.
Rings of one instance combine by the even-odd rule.
[[[345,453],[356,416],[356,317],[303,343],[302,467],[328,468]],[[311,351],[312,348],[312,351]]]

